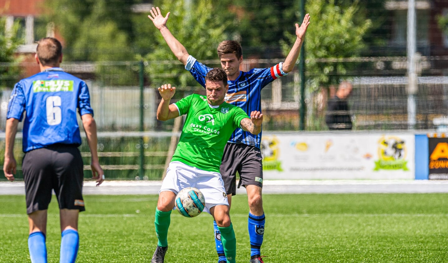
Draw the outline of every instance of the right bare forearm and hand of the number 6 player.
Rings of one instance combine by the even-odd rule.
[[[82,114],[82,126],[86,132],[87,144],[90,148],[90,168],[92,169],[92,179],[96,180],[96,186],[99,186],[104,181],[104,171],[99,165],[98,159],[98,137],[96,135],[96,122],[90,113]]]

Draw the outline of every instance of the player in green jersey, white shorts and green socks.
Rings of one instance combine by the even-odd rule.
[[[263,114],[250,113],[224,102],[228,90],[227,75],[214,68],[206,75],[206,96],[193,94],[169,104],[175,87],[159,88],[157,119],[166,121],[187,114],[181,138],[167,169],[155,211],[157,248],[151,263],[163,263],[168,250],[168,227],[177,192],[185,187],[198,188],[205,197],[205,211],[210,213],[221,231],[227,262],[235,263],[236,239],[229,216],[228,200],[220,175],[224,146],[233,131],[240,127],[252,134],[261,131]]]

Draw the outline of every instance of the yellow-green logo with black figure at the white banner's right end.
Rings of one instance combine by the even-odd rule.
[[[375,161],[374,171],[403,170],[409,171],[407,146],[405,140],[397,136],[382,136],[378,141],[379,160]]]

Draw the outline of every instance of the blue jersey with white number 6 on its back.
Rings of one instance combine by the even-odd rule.
[[[23,123],[23,151],[61,143],[81,145],[76,111],[93,115],[87,84],[59,67],[19,81],[13,89],[7,118]]]

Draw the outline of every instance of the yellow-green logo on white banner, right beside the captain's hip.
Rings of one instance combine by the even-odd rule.
[[[261,156],[263,158],[263,170],[283,171],[281,161],[279,161],[280,148],[276,136],[263,137],[260,145]]]

